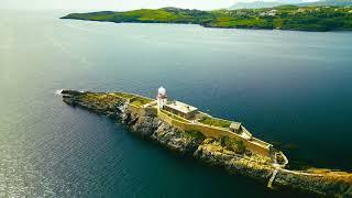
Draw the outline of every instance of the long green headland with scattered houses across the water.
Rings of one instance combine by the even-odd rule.
[[[124,12],[70,13],[62,19],[114,23],[182,23],[222,29],[275,29],[318,32],[352,30],[351,7],[326,6],[279,6],[263,9],[213,11],[162,8]]]

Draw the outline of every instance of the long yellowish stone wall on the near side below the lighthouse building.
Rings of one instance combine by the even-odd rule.
[[[182,121],[178,121],[178,120],[175,120],[175,119],[168,117],[167,114],[165,114],[161,111],[157,112],[157,116],[161,120],[163,120],[164,122],[168,123],[169,125],[172,125],[180,131],[195,130],[195,131],[201,132],[204,135],[206,135],[208,138],[229,136],[231,139],[242,141],[243,144],[245,145],[245,147],[253,153],[264,155],[264,156],[271,155],[271,144],[267,144],[266,142],[260,141],[257,139],[255,139],[255,141],[249,141],[249,140],[246,140],[246,139],[244,139],[244,138],[242,138],[242,136],[240,136],[229,130],[226,130],[226,129],[209,127],[209,125],[205,125],[205,124],[182,122]],[[264,144],[262,144],[262,142]]]

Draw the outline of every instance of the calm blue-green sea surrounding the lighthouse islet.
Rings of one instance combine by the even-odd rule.
[[[0,14],[0,197],[282,197],[73,109],[54,91],[132,91],[243,122],[292,162],[352,170],[352,34]],[[292,195],[292,193],[289,193]]]

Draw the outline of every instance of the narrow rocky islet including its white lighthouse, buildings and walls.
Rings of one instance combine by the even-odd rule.
[[[238,121],[211,117],[172,100],[161,87],[156,99],[129,92],[63,90],[63,101],[129,127],[168,150],[252,177],[268,188],[328,197],[352,197],[352,174],[322,168],[294,170],[283,152],[258,140]]]

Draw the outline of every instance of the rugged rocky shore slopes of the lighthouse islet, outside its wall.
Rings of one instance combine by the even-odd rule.
[[[130,131],[184,155],[224,167],[273,188],[296,190],[329,197],[352,197],[352,174],[328,169],[289,170],[273,160],[255,154],[226,139],[207,138],[197,131],[180,131],[153,113],[143,114],[128,108],[128,94],[62,91],[63,100],[72,107],[107,116],[129,127]]]

